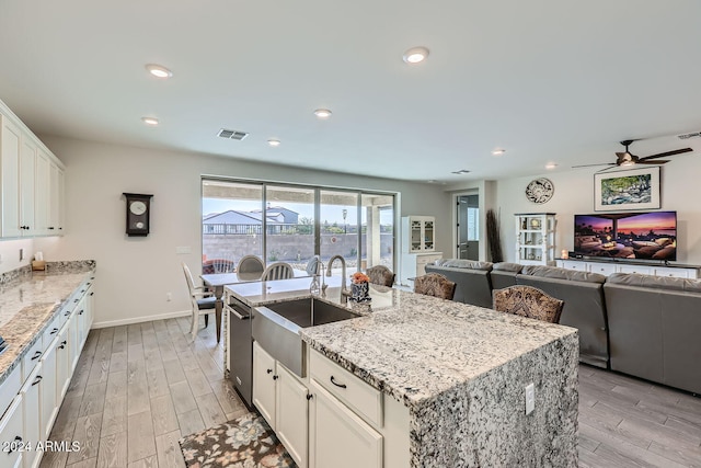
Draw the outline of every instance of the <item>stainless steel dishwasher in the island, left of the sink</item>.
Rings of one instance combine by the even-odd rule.
[[[228,297],[225,304],[229,312],[229,378],[249,408],[253,392],[253,338],[251,335],[251,308]]]

